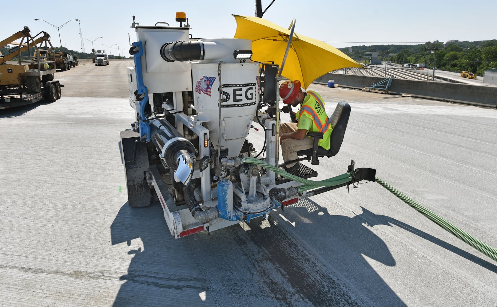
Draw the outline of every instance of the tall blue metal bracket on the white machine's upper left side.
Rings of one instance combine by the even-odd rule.
[[[140,102],[140,140],[146,138],[147,142],[150,142],[150,125],[146,121],[147,119],[145,118],[145,106],[149,102],[149,90],[143,84],[143,72],[142,72],[143,45],[142,42],[134,42],[133,46],[135,48],[138,48],[138,53],[134,55],[134,60],[135,60],[136,85],[138,89],[135,98]]]

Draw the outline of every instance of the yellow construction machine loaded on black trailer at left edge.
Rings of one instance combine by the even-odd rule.
[[[24,27],[0,42],[0,47],[7,45],[14,47],[0,58],[0,109],[59,99],[63,85],[54,80],[56,61],[50,35],[42,31],[31,36]]]

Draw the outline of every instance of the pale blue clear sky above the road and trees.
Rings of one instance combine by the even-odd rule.
[[[262,10],[271,1],[262,0]],[[117,0],[85,1],[81,5],[76,1],[64,2],[64,5],[62,2],[61,5],[40,5],[39,0],[23,0],[22,3],[21,14],[6,13],[9,10],[14,12],[15,4],[2,8],[0,40],[28,26],[31,35],[41,31],[50,34],[54,47],[62,42],[62,46],[82,52],[81,27],[85,52],[91,52],[91,41],[94,41],[94,49],[121,56],[129,56],[128,34],[131,43],[136,41],[135,30],[131,28],[133,15],[141,26],[156,22],[178,26],[175,13],[185,12],[190,34],[196,38],[233,38],[237,25],[232,14],[255,16],[254,0]],[[497,39],[492,17],[496,10],[495,0],[275,0],[263,18],[284,28],[295,19],[295,32],[343,48],[414,45],[435,39],[440,42]],[[57,28],[34,19],[43,19],[59,27],[60,40]],[[68,20],[72,21],[65,24]]]

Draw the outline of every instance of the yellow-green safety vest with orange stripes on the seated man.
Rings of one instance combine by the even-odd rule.
[[[331,122],[326,115],[323,98],[315,91],[307,91],[304,102],[296,114],[299,129],[307,129],[311,132],[323,132],[323,138],[319,140],[319,146],[330,149]]]

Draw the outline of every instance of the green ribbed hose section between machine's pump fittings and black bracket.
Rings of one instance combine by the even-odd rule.
[[[352,175],[350,173],[345,173],[345,174],[338,175],[338,176],[335,176],[333,178],[322,180],[322,181],[308,180],[308,179],[300,178],[298,176],[294,176],[290,173],[287,173],[284,170],[267,163],[266,161],[262,161],[262,160],[259,160],[256,158],[251,158],[251,157],[245,157],[245,158],[241,158],[241,159],[242,159],[242,163],[251,163],[251,164],[256,164],[258,166],[262,166],[262,167],[268,169],[269,171],[274,172],[276,174],[279,174],[279,175],[281,175],[285,178],[288,178],[292,181],[295,181],[295,182],[298,182],[301,184],[305,184],[305,185],[302,185],[303,189],[300,191],[306,191],[306,190],[309,190],[311,188],[320,187],[320,186],[335,186],[338,184],[345,184],[345,183],[352,181]],[[300,186],[299,186],[299,189],[300,189]]]

